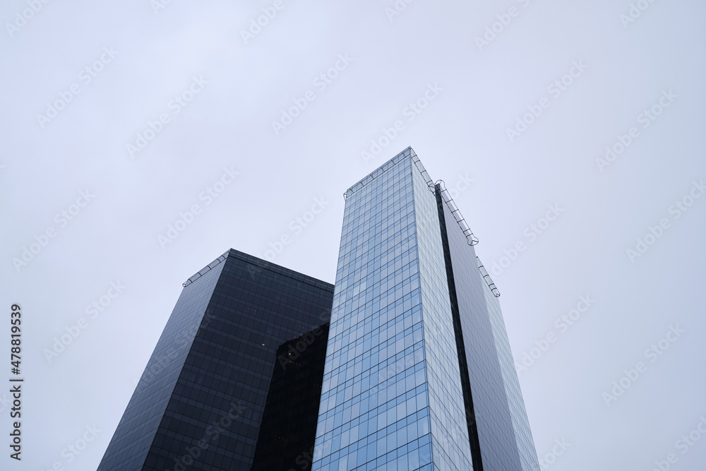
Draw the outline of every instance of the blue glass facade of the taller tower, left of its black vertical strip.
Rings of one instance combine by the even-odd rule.
[[[470,469],[458,365],[454,379],[441,345],[443,253],[421,255],[441,250],[438,216],[433,232],[419,213],[436,213],[433,198],[411,149],[346,193],[313,470]]]

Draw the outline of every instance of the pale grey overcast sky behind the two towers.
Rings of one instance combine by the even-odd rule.
[[[181,283],[231,247],[334,282],[342,193],[412,145],[480,240],[549,469],[703,470],[705,14],[4,1],[0,467],[95,470]]]

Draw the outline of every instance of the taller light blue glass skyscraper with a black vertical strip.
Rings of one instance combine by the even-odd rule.
[[[346,191],[313,470],[539,470],[476,242],[412,148]]]

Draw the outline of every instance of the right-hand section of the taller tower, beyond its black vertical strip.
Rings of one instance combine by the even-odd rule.
[[[483,469],[539,471],[498,298],[481,278],[474,247],[442,207]]]

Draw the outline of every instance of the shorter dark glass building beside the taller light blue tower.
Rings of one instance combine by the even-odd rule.
[[[282,469],[303,469],[295,460],[313,447],[332,299],[333,285],[233,249],[186,280],[98,470],[248,471],[261,426],[261,454],[286,451]],[[277,423],[278,397],[299,428]]]

